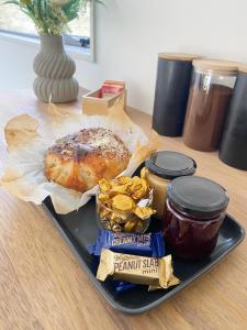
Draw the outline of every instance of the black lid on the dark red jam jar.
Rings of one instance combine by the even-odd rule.
[[[195,217],[214,217],[229,201],[221,185],[200,176],[176,178],[167,187],[167,196],[176,209]]]

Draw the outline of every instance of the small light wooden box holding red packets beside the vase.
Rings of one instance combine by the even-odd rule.
[[[108,109],[115,102],[122,103],[122,108],[126,110],[126,89],[109,98],[101,98],[101,89],[89,92],[82,97],[82,113],[106,116]]]

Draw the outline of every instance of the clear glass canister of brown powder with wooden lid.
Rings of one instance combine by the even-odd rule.
[[[183,141],[191,148],[218,148],[237,76],[237,64],[225,61],[193,61]]]

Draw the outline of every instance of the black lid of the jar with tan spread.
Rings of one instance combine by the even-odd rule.
[[[147,169],[165,179],[193,175],[197,169],[197,163],[192,158],[171,151],[160,151],[151,154],[146,160],[145,165]]]

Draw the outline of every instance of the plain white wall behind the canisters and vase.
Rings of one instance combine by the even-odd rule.
[[[127,82],[128,105],[153,110],[157,53],[247,62],[246,0],[104,0],[97,10],[97,63],[76,59],[81,86]],[[0,89],[32,86],[37,51],[0,40]]]

